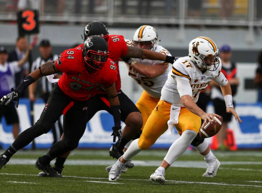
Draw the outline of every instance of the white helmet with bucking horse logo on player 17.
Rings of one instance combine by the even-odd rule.
[[[200,68],[215,71],[219,67],[219,50],[209,38],[201,36],[189,43],[190,59]]]

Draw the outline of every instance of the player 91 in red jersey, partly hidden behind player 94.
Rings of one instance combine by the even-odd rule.
[[[143,31],[141,33],[144,33]],[[164,54],[141,49],[138,47],[127,46],[124,36],[122,35],[109,35],[106,26],[99,22],[93,21],[89,22],[84,29],[84,39],[88,38],[90,35],[99,35],[103,37],[108,43],[109,50],[109,58],[111,58],[117,65],[118,69],[118,61],[119,58],[124,60],[128,60],[129,58],[143,58],[150,60],[160,60],[164,62],[174,63],[174,57],[166,56]],[[76,49],[82,49],[83,44],[80,44],[76,47]],[[119,69],[118,69],[119,73]],[[143,125],[143,119],[140,111],[135,106],[135,104],[125,95],[121,90],[121,79],[120,74],[118,74],[118,78],[116,81],[116,89],[118,92],[118,98],[121,104],[121,120],[126,124],[122,131],[122,138],[117,141],[115,145],[113,145],[110,150],[110,156],[114,158],[120,158],[122,156],[124,146],[131,140],[139,138],[140,129]],[[87,121],[89,121],[98,111],[106,110],[111,113],[110,105],[108,102],[108,97],[104,91],[98,92],[98,94],[90,99],[93,101],[88,105],[88,117]],[[99,105],[97,105],[99,104]],[[111,113],[112,114],[112,113]],[[63,137],[63,136],[62,136]],[[61,173],[63,169],[64,162],[69,155],[69,152],[59,156],[56,158],[56,163],[54,168]],[[132,168],[134,165],[132,162],[128,161],[126,167]],[[44,173],[42,173],[44,174]],[[45,175],[38,175],[45,176]]]

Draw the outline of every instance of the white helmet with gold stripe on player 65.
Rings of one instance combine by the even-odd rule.
[[[151,43],[149,50],[155,51],[159,43],[156,30],[150,25],[140,26],[133,37],[133,45],[138,46],[138,43]]]

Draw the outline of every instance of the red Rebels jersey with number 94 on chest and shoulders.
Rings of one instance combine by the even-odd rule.
[[[56,68],[64,72],[58,81],[60,89],[79,101],[95,96],[103,86],[112,85],[118,77],[117,65],[111,59],[107,59],[101,69],[89,73],[81,49],[65,50],[56,60]]]

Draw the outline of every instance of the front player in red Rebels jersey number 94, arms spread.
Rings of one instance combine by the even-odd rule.
[[[64,115],[64,138],[55,143],[42,157],[38,158],[35,166],[50,177],[61,177],[50,166],[50,161],[78,146],[86,128],[87,107],[89,99],[95,96],[97,90],[104,87],[109,98],[111,112],[114,116],[114,140],[121,138],[120,103],[115,83],[117,66],[108,59],[108,45],[99,36],[88,37],[83,50],[65,50],[56,61],[42,64],[39,69],[30,73],[12,93],[4,96],[0,103],[8,105],[12,100],[18,107],[19,97],[30,84],[42,76],[64,72],[48,98],[39,120],[32,127],[22,132],[13,144],[0,156],[0,169],[17,150],[28,145],[34,138],[50,131],[52,125]]]

